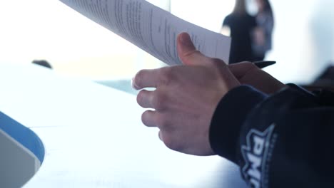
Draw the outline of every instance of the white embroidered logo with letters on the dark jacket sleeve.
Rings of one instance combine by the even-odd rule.
[[[247,134],[246,145],[241,147],[243,159],[245,160],[242,173],[251,187],[264,187],[263,172],[265,172],[265,163],[268,160],[270,139],[274,127],[274,125],[271,125],[264,132],[252,129]]]

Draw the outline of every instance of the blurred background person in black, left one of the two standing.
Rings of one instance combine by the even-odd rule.
[[[232,38],[230,62],[253,61],[252,37],[256,20],[246,11],[246,0],[236,0],[233,12],[223,21],[221,33]]]

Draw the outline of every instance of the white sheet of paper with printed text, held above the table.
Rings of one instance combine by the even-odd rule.
[[[60,1],[170,66],[181,64],[176,51],[181,32],[191,35],[201,53],[228,63],[231,38],[179,19],[145,0]]]

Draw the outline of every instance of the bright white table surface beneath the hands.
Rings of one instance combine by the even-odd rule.
[[[136,96],[36,65],[0,64],[0,111],[44,142],[24,187],[246,187],[221,157],[169,150],[141,123]]]

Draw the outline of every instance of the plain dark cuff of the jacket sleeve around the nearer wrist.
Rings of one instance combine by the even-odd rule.
[[[241,85],[229,91],[218,103],[210,128],[210,144],[214,152],[236,162],[238,138],[248,113],[267,95],[251,86]]]

